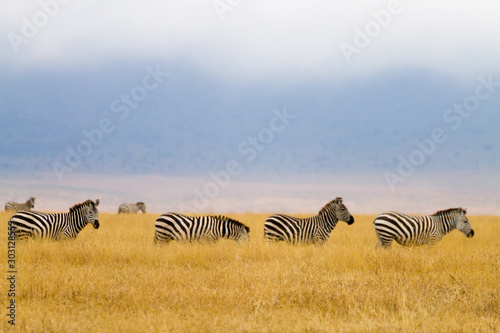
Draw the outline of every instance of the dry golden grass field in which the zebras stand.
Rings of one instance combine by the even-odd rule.
[[[7,271],[7,222],[1,252]],[[270,214],[227,214],[237,245],[153,244],[159,214],[100,214],[75,241],[18,243],[16,328],[34,332],[498,331],[500,217],[471,216],[437,245],[375,250],[374,216],[321,247],[268,245]],[[2,331],[7,323],[2,279]]]

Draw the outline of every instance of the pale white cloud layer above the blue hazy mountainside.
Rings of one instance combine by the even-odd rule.
[[[160,59],[233,79],[424,68],[475,80],[500,72],[499,17],[487,0],[4,1],[0,57],[19,70]]]

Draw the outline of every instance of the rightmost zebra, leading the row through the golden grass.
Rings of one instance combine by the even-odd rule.
[[[373,221],[377,247],[389,248],[393,240],[404,246],[435,244],[453,229],[471,238],[474,230],[465,214],[467,211],[463,208],[450,208],[427,216],[383,213]]]

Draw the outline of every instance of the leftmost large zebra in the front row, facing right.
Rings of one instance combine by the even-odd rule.
[[[99,199],[87,200],[74,205],[69,213],[46,214],[23,211],[12,215],[9,226],[15,230],[16,239],[75,239],[78,233],[90,222],[99,228]]]

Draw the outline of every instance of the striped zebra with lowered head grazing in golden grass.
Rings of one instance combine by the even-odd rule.
[[[215,242],[220,238],[240,243],[250,239],[250,228],[226,216],[163,214],[156,219],[155,243],[172,240]]]

